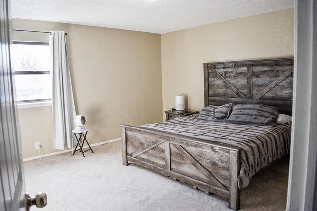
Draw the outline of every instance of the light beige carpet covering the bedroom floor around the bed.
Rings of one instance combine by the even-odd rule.
[[[38,160],[24,162],[27,191],[30,195],[47,194],[48,205],[43,211],[232,211],[217,195],[207,196],[133,164],[123,166],[120,144],[94,147],[95,153],[86,152],[86,158],[78,151],[49,167],[35,167]],[[42,165],[64,157],[44,158]],[[284,211],[287,179],[288,158],[256,174],[241,191],[241,210]]]

